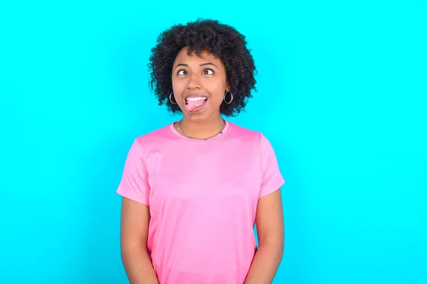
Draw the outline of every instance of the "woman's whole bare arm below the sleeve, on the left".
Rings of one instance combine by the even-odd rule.
[[[159,284],[147,251],[149,219],[147,205],[122,198],[120,246],[131,284]]]

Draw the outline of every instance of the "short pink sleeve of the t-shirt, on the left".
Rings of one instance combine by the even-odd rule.
[[[149,185],[142,146],[135,139],[130,147],[117,193],[130,200],[149,205]]]

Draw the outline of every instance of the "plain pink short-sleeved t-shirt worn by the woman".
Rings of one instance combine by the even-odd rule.
[[[263,134],[226,121],[222,134],[194,140],[170,124],[135,139],[117,192],[149,206],[160,284],[241,284],[258,199],[284,183]]]

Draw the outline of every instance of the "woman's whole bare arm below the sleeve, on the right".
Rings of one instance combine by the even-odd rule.
[[[280,189],[258,200],[255,222],[259,249],[245,284],[270,284],[278,271],[285,243]]]

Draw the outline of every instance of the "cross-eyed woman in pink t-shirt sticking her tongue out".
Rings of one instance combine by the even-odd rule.
[[[127,156],[117,192],[130,283],[271,283],[285,180],[263,134],[221,117],[255,89],[245,37],[218,21],[173,26],[149,67],[159,104],[182,119],[136,138]]]

